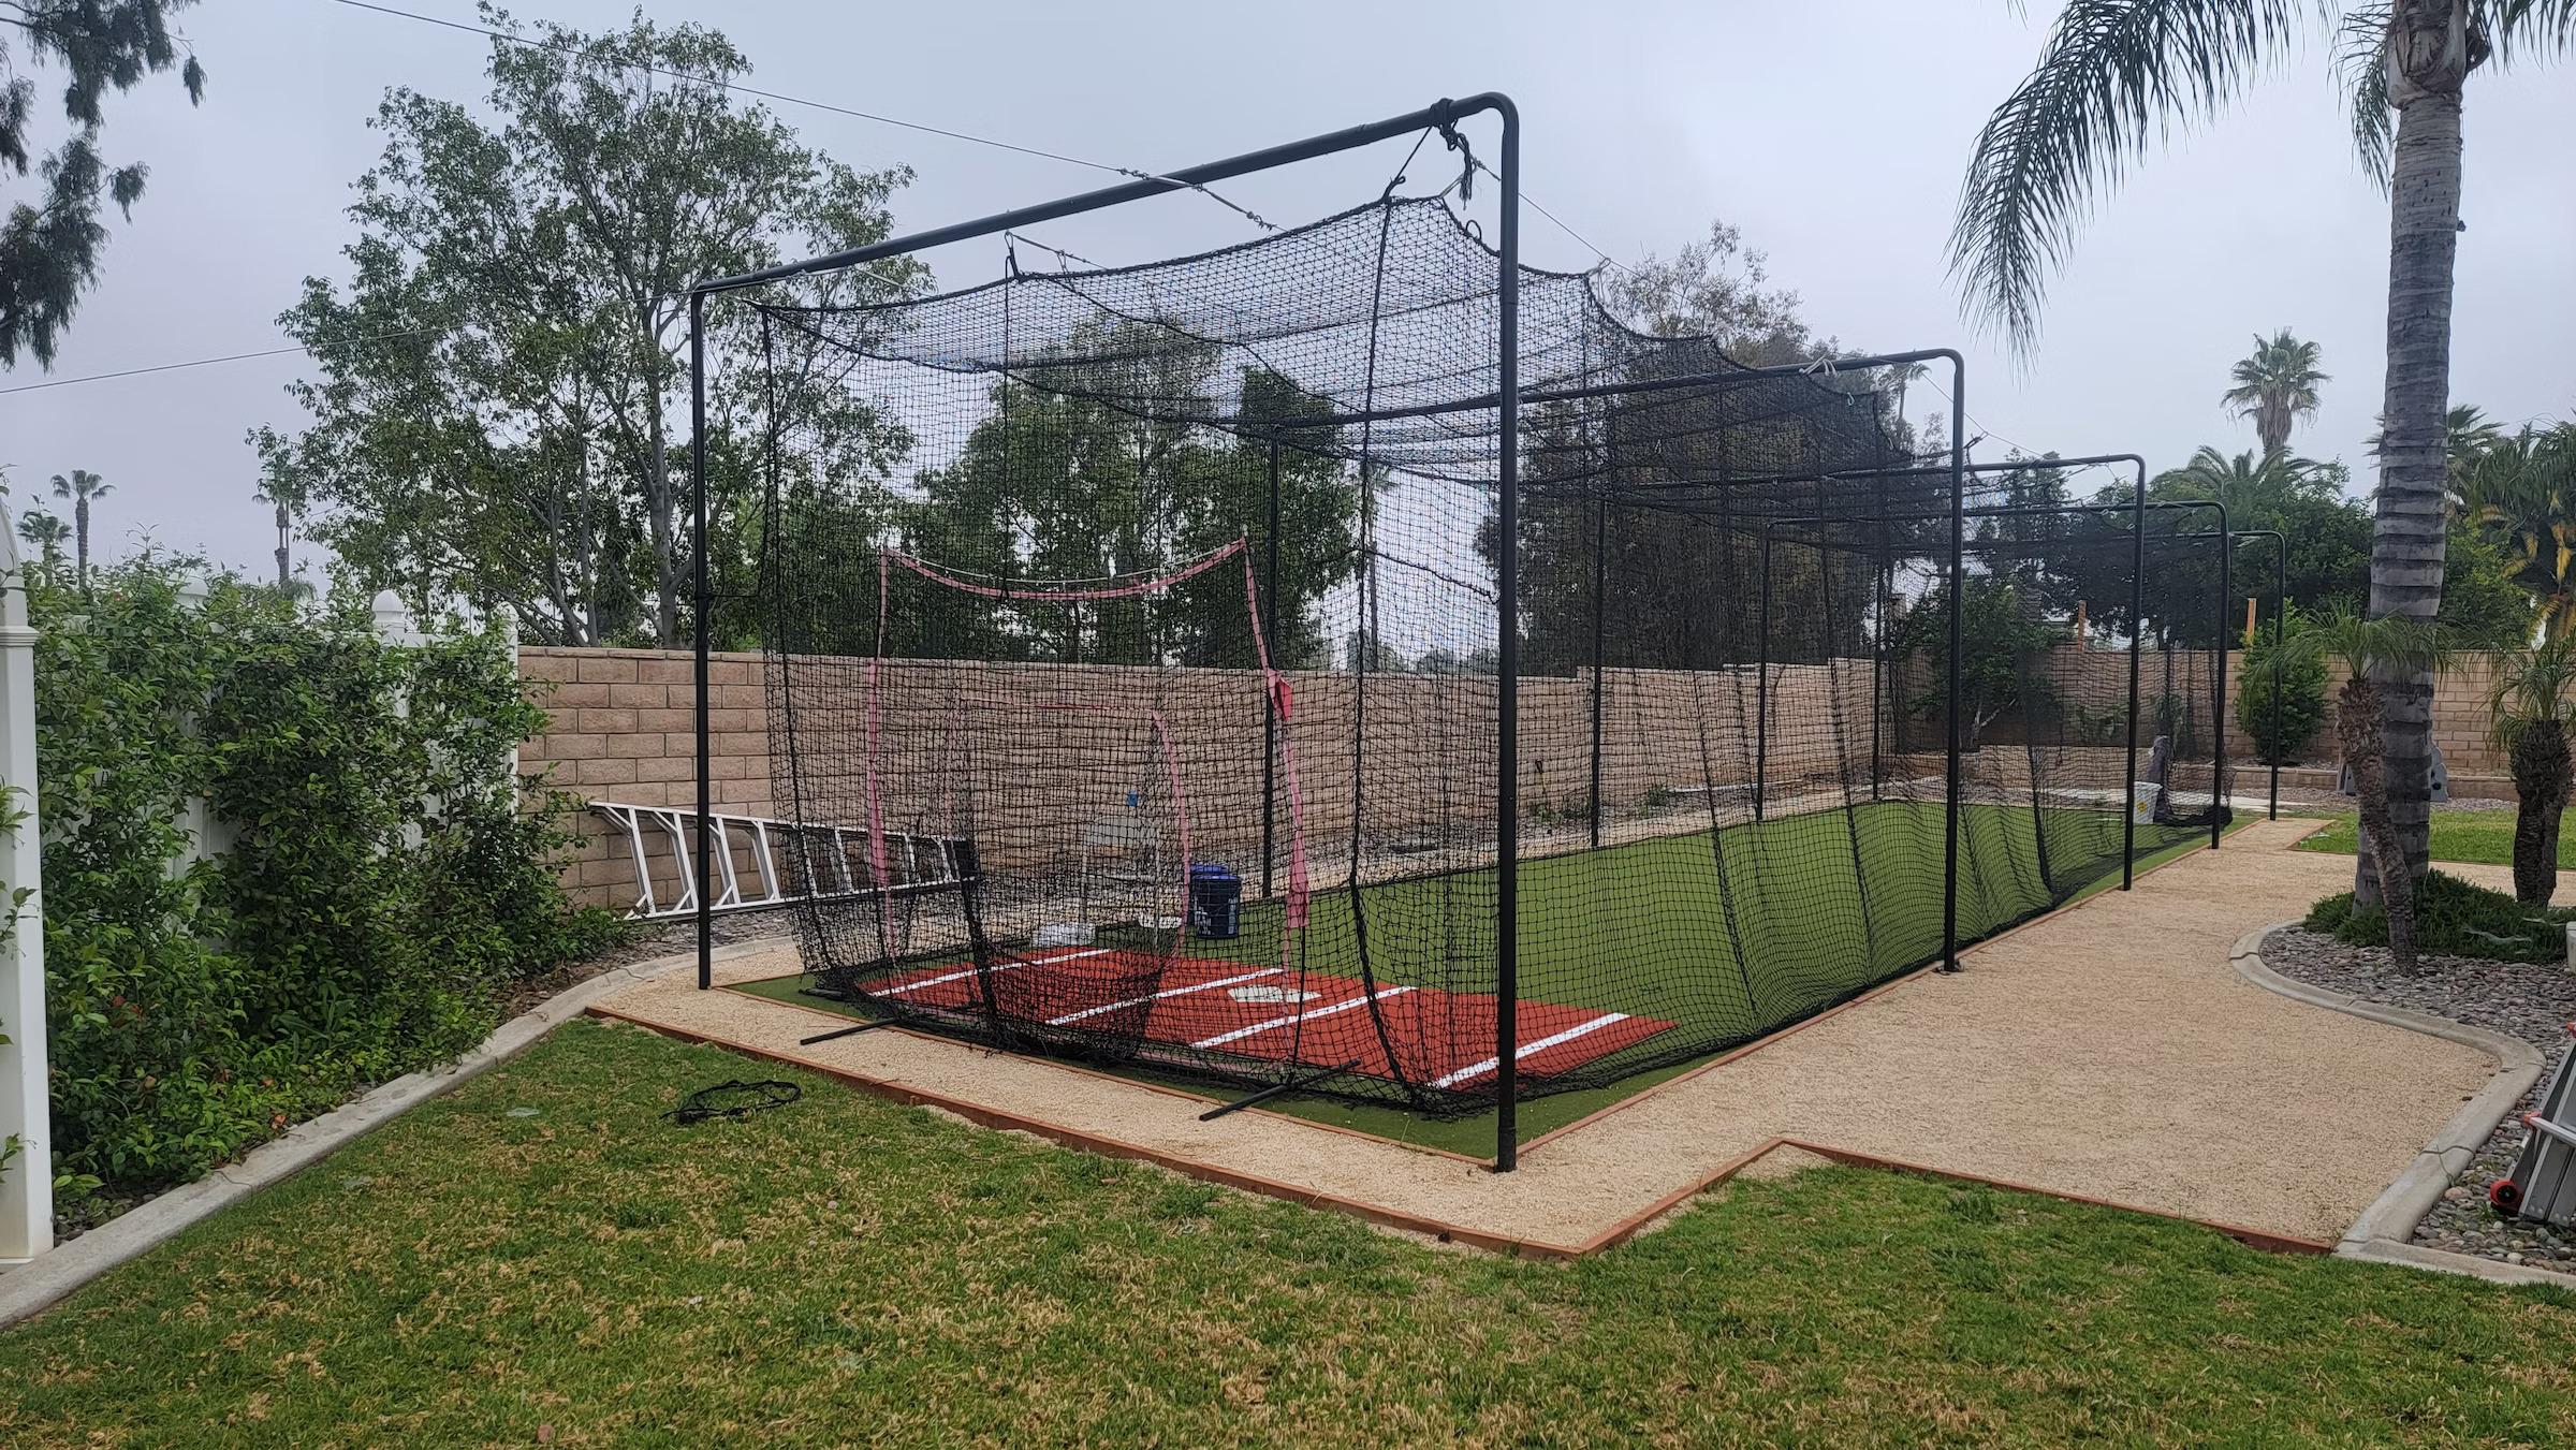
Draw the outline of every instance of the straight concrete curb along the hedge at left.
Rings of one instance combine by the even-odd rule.
[[[716,961],[770,950],[770,945],[773,943],[765,940],[721,945],[716,948]],[[196,1182],[173,1187],[170,1192],[134,1208],[124,1218],[100,1223],[59,1249],[0,1272],[0,1329],[18,1324],[93,1277],[157,1247],[162,1239],[170,1239],[198,1218],[240,1203],[242,1198],[250,1198],[252,1192],[363,1138],[366,1133],[374,1133],[402,1113],[453,1092],[484,1071],[492,1071],[536,1046],[536,1040],[554,1028],[585,1015],[592,1002],[613,992],[623,992],[636,981],[649,981],[654,976],[696,966],[698,953],[677,953],[608,968],[600,976],[556,992],[533,1010],[510,1017],[453,1064],[376,1084],[319,1118],[296,1123],[286,1131],[286,1136],[242,1154],[240,1162],[224,1164]]]

